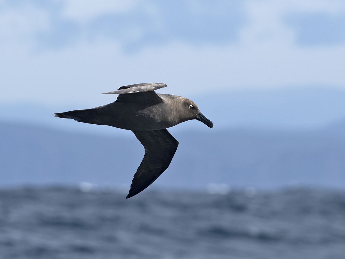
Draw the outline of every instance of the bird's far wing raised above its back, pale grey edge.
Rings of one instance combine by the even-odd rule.
[[[143,83],[121,86],[117,91],[103,94],[119,94],[117,100],[120,102],[162,102],[162,99],[154,92],[159,88],[166,87],[162,83]]]

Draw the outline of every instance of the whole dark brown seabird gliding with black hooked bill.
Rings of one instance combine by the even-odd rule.
[[[177,150],[178,141],[167,128],[181,122],[197,119],[212,128],[193,101],[176,95],[157,94],[155,90],[166,87],[162,83],[144,83],[121,86],[113,103],[92,109],[55,113],[56,117],[74,119],[98,125],[109,125],[131,130],[145,148],[145,155],[134,174],[130,198],[146,189],[169,166]]]

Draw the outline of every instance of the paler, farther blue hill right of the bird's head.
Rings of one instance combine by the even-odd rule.
[[[345,117],[345,90],[332,87],[244,89],[194,99],[218,127],[313,129]]]

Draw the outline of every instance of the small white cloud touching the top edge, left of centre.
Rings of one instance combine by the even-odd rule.
[[[138,0],[66,0],[63,17],[83,22],[104,13],[127,12],[134,8]]]

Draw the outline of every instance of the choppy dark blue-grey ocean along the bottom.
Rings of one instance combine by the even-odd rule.
[[[345,192],[0,190],[0,258],[344,259]]]

